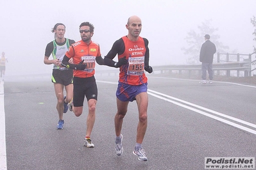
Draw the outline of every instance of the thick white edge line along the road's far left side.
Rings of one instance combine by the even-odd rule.
[[[0,82],[0,169],[7,169],[6,140],[5,140],[5,113],[4,113],[4,82]]]

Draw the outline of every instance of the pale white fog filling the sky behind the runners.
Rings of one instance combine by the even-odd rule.
[[[43,59],[47,43],[54,39],[51,28],[57,22],[65,24],[65,37],[75,41],[81,39],[81,22],[94,24],[92,40],[99,43],[104,57],[115,40],[127,35],[128,17],[138,15],[141,36],[149,40],[152,66],[185,64],[188,56],[181,48],[187,47],[187,33],[197,31],[209,19],[211,26],[218,28],[219,42],[230,50],[250,54],[255,45],[250,22],[256,15],[255,0],[1,0],[0,6],[0,52],[4,51],[9,61],[6,76],[51,73],[53,65],[44,65]]]

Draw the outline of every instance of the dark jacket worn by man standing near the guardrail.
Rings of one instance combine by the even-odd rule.
[[[216,52],[216,46],[210,40],[206,40],[203,45],[201,45],[200,50],[200,62],[202,63],[212,63],[214,53]]]

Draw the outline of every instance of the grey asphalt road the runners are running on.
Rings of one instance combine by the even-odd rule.
[[[124,153],[114,150],[117,77],[96,77],[98,104],[91,135],[83,146],[83,114],[58,116],[51,81],[4,82],[7,168],[12,169],[205,169],[205,157],[255,157],[256,88],[224,82],[148,75],[147,162],[132,154],[138,123],[130,102],[122,134]]]

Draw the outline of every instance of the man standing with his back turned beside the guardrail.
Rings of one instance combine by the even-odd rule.
[[[201,62],[201,78],[203,81],[201,83],[205,84],[206,81],[206,72],[209,73],[209,83],[212,83],[213,79],[213,70],[212,70],[212,61],[214,54],[216,52],[216,46],[214,43],[210,42],[210,35],[205,35],[205,43],[201,46],[200,50],[200,62]]]

